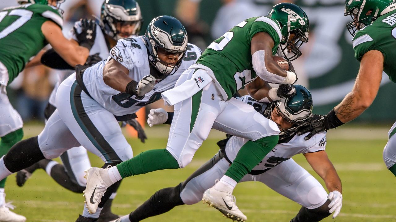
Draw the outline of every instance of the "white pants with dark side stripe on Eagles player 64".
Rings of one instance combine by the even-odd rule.
[[[105,163],[133,157],[114,115],[90,98],[71,75],[61,83],[56,95],[57,109],[38,135],[40,150],[47,159],[82,145]]]

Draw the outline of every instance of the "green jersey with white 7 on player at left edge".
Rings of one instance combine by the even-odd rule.
[[[11,83],[29,59],[48,44],[41,31],[46,21],[62,28],[58,10],[48,5],[24,4],[0,11],[0,62],[8,70],[8,77],[0,73],[0,84]]]

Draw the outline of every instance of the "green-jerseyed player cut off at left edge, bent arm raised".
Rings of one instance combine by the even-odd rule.
[[[26,1],[23,1],[26,2]],[[84,64],[95,36],[87,23],[79,43],[67,40],[62,34],[63,19],[57,0],[29,0],[29,4],[0,11],[0,156],[23,137],[21,116],[11,106],[6,86],[17,77],[29,62],[48,43],[72,66]],[[36,3],[36,4],[34,4]],[[87,37],[88,36],[88,37]],[[26,218],[9,210],[4,197],[6,179],[0,181],[0,221],[25,221]]]

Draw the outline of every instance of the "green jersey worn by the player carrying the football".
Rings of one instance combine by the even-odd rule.
[[[230,99],[236,91],[257,77],[252,66],[250,42],[258,32],[266,32],[272,37],[275,43],[272,54],[275,55],[282,38],[280,25],[278,21],[262,16],[237,24],[213,41],[198,58],[198,64],[213,71],[212,77],[219,86],[223,99]]]

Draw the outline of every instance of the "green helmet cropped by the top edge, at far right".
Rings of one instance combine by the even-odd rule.
[[[394,9],[396,9],[395,0],[345,0],[344,16],[352,17],[352,22],[346,24],[346,28],[354,36],[358,30],[373,23],[377,17]]]

